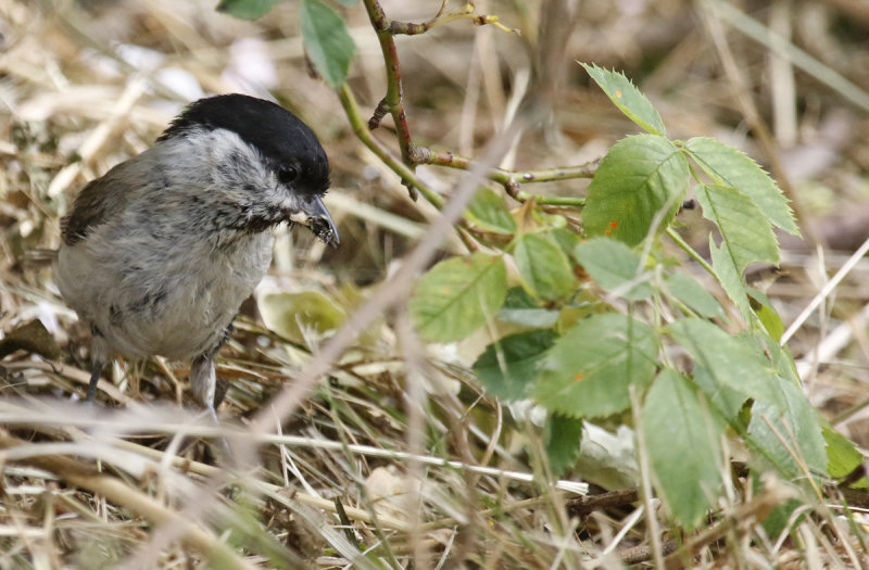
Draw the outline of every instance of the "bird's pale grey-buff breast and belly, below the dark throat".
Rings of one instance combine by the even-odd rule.
[[[193,221],[193,220],[190,220]],[[138,226],[141,227],[141,226]],[[187,359],[216,347],[265,275],[270,231],[238,233],[227,245],[193,228],[97,231],[63,248],[59,286],[110,352]]]

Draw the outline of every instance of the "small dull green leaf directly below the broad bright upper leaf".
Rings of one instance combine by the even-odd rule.
[[[654,292],[640,271],[640,256],[620,241],[591,239],[577,245],[574,257],[595,283],[610,293],[639,301]]]

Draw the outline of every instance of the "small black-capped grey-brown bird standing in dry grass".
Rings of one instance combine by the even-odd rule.
[[[92,333],[92,401],[121,355],[192,362],[197,401],[216,418],[214,354],[272,263],[270,229],[304,214],[331,246],[329,163],[281,106],[200,99],[153,147],[89,182],[61,219],[56,281]]]

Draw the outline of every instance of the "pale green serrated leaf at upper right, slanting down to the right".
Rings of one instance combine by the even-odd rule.
[[[772,178],[748,155],[705,137],[689,140],[685,149],[716,182],[736,188],[751,198],[772,224],[789,233],[799,236],[788,199]]]

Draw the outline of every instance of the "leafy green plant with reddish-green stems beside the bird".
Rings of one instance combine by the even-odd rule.
[[[275,3],[224,0],[219,9],[257,17]],[[431,21],[404,24],[390,22],[377,1],[363,4],[388,80],[369,122],[345,83],[353,42],[340,15],[319,0],[301,1],[307,53],[338,91],[361,141],[401,176],[412,197],[418,192],[442,206],[415,166],[469,169],[474,163],[414,144],[393,36],[458,18],[479,25],[498,20],[476,14],[473,3],[448,13],[444,2]],[[490,344],[474,370],[491,395],[545,407],[556,474],[576,459],[583,420],[629,418],[625,413],[633,409],[655,491],[688,529],[722,493],[727,438],[750,451],[751,468],[774,471],[804,499],[820,501],[820,485],[851,472],[860,455],[805,397],[793,358],[780,345],[781,318],[744,277],[750,264],[779,262],[773,227],[798,235],[788,200],[747,155],[711,138],[669,139],[657,111],[627,77],[581,65],[644,132],[615,143],[600,164],[488,169],[493,187],[480,188],[458,221],[471,253],[434,265],[411,299],[417,333],[450,343],[483,327],[495,337],[514,331]],[[401,159],[369,132],[387,113]],[[580,177],[593,177],[585,197],[537,197],[520,186]],[[495,185],[518,206],[511,207]],[[675,229],[689,195],[718,230],[709,236],[710,263]],[[667,255],[672,244],[719,283],[727,306]]]

